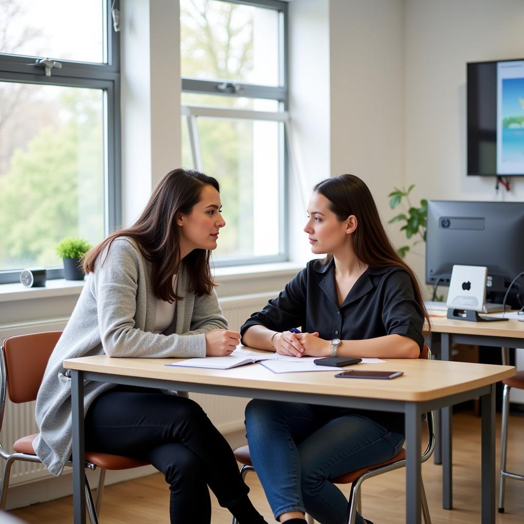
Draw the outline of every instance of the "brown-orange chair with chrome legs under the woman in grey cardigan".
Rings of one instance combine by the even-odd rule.
[[[36,400],[47,361],[61,334],[61,331],[52,331],[11,336],[5,339],[4,345],[0,348],[0,429],[2,429],[7,395],[14,403]],[[37,434],[26,435],[18,439],[13,444],[14,453],[7,453],[0,443],[0,456],[6,461],[2,474],[0,510],[5,509],[9,476],[14,461],[40,462],[32,447],[32,442]],[[68,465],[72,463],[69,462]],[[97,468],[100,470],[96,504],[93,503],[87,476],[85,478],[86,506],[91,524],[98,522],[97,515],[100,513],[102,504],[105,471],[128,470],[145,465],[147,463],[129,457],[106,453],[85,453],[85,467],[92,471]]]

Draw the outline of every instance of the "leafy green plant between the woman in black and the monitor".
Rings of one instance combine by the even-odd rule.
[[[388,195],[389,207],[391,209],[395,209],[398,205],[403,205],[403,201],[406,201],[406,205],[403,205],[403,207],[405,208],[405,212],[399,213],[398,215],[394,216],[388,222],[388,224],[400,222],[402,224],[400,231],[404,231],[406,233],[406,237],[408,238],[408,240],[410,240],[413,237],[419,237],[413,243],[412,246],[402,246],[397,249],[397,253],[402,258],[404,258],[407,255],[411,247],[421,242],[425,242],[426,238],[428,201],[422,199],[418,208],[412,206],[409,201],[409,194],[411,193],[414,187],[415,184],[411,184],[408,189],[395,188],[395,190],[391,191],[391,193],[389,193]]]

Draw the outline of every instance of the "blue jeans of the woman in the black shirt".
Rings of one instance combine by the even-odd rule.
[[[348,516],[347,499],[330,479],[389,460],[404,442],[361,412],[272,400],[248,403],[246,430],[275,518],[301,511],[322,524]],[[363,522],[358,514],[356,522]]]

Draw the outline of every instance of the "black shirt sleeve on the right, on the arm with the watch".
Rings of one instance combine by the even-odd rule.
[[[403,269],[399,268],[387,277],[382,321],[388,335],[408,336],[422,348],[424,316],[415,299],[411,278]]]

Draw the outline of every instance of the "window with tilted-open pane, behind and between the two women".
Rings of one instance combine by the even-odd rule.
[[[217,178],[215,265],[286,260],[287,4],[180,0],[182,161]]]

